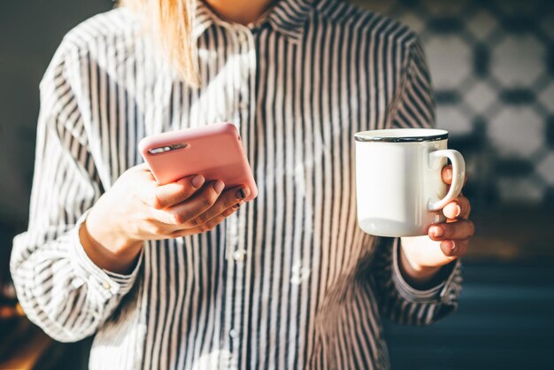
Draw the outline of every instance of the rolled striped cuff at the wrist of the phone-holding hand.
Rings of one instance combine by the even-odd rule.
[[[87,216],[88,211],[81,215],[72,231],[71,260],[73,261],[75,272],[81,276],[83,281],[88,282],[88,289],[99,293],[104,298],[104,301],[116,295],[123,296],[133,288],[136,276],[142,265],[143,251],[141,251],[135,269],[130,274],[116,274],[96,266],[88,257],[79,237],[79,230],[84,220],[87,219]]]

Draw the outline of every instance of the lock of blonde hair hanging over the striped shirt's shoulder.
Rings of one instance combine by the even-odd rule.
[[[158,42],[165,57],[181,79],[200,85],[196,42],[192,38],[195,1],[198,0],[119,0],[139,14]]]

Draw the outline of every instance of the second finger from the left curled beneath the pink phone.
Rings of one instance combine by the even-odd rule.
[[[224,188],[225,183],[223,181],[213,181],[196,192],[186,202],[181,202],[167,208],[166,211],[171,214],[173,224],[180,228],[190,228],[199,225],[196,222],[198,215],[206,212],[216,203]]]

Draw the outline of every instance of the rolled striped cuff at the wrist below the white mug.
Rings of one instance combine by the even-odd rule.
[[[413,303],[429,303],[429,304],[455,304],[461,287],[461,264],[459,259],[454,263],[444,268],[450,268],[450,272],[446,274],[445,279],[435,287],[425,290],[415,289],[407,281],[400,272],[400,239],[396,238],[393,243],[393,281],[398,290],[398,293],[408,302]]]

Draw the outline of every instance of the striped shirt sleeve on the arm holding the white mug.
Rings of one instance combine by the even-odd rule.
[[[412,35],[403,64],[402,78],[391,109],[390,127],[434,127],[435,98],[425,53]],[[415,289],[400,273],[399,238],[378,238],[372,274],[381,312],[391,321],[429,325],[454,311],[461,290],[459,260],[441,271],[442,281],[431,289]]]

